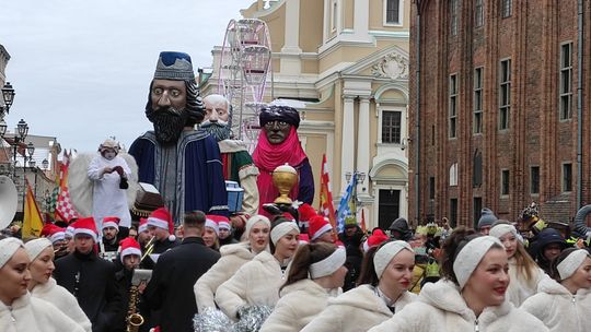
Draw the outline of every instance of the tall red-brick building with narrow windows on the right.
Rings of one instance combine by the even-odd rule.
[[[591,203],[591,1],[413,2],[409,216],[472,226],[535,201],[570,221]]]

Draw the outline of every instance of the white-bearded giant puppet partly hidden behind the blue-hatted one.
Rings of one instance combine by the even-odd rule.
[[[243,141],[232,140],[231,105],[222,95],[208,95],[204,98],[205,119],[200,127],[218,141],[223,163],[223,178],[239,182],[244,189],[242,211],[254,215],[258,210],[258,168],[253,163]]]

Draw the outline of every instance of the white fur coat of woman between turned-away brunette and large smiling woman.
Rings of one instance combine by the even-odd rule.
[[[409,292],[403,293],[394,305],[395,311],[402,310],[416,297]],[[364,332],[390,319],[392,315],[384,300],[375,294],[374,287],[361,285],[328,299],[326,309],[305,325],[302,332]]]

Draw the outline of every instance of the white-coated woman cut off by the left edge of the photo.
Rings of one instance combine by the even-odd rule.
[[[81,325],[54,305],[28,294],[30,263],[20,239],[0,240],[0,331],[83,332]]]

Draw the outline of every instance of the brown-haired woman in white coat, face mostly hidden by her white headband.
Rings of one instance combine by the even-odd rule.
[[[331,297],[338,296],[345,283],[346,252],[332,244],[318,242],[298,248],[281,298],[260,332],[301,331],[326,308]]]

